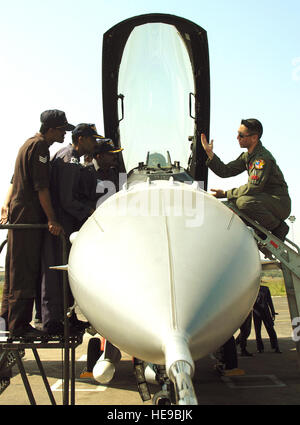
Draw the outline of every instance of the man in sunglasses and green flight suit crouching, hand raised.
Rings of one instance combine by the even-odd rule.
[[[212,189],[217,198],[226,198],[279,239],[284,240],[289,227],[285,223],[291,212],[288,186],[273,155],[262,145],[262,124],[256,119],[242,120],[237,139],[242,153],[235,161],[224,164],[213,152],[213,141],[207,143],[201,135],[202,146],[208,156],[208,167],[219,177],[236,176],[248,172],[247,184],[223,191]]]

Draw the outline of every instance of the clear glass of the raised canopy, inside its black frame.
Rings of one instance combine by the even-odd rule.
[[[185,34],[189,37],[188,34]],[[194,77],[173,25],[148,23],[131,32],[119,69],[120,144],[127,172],[139,162],[187,167],[194,133]]]

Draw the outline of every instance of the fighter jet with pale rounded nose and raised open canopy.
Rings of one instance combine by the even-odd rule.
[[[104,34],[102,63],[121,190],[72,236],[71,289],[100,335],[137,367],[164,370],[176,403],[197,404],[195,361],[239,328],[261,273],[251,231],[206,192],[207,34],[177,16],[137,16]]]

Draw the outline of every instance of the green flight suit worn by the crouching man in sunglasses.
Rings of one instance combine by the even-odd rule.
[[[268,230],[274,230],[291,212],[291,199],[283,174],[273,155],[258,142],[254,151],[243,152],[224,164],[214,154],[207,166],[219,177],[233,177],[248,171],[248,183],[228,190],[227,199]]]

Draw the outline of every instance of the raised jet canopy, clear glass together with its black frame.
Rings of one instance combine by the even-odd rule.
[[[105,134],[124,148],[127,172],[140,162],[168,167],[180,161],[188,168],[193,153],[190,172],[206,185],[200,134],[209,137],[209,100],[208,46],[201,27],[150,14],[105,33]]]

